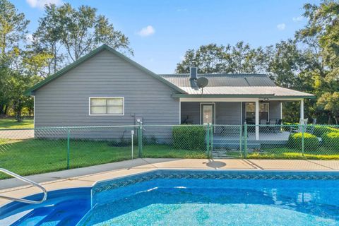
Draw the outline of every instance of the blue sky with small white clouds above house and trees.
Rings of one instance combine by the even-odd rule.
[[[131,42],[129,56],[155,73],[173,73],[186,49],[201,44],[235,44],[243,40],[252,47],[275,44],[293,37],[302,28],[302,6],[314,0],[10,0],[37,28],[45,3],[97,8]]]

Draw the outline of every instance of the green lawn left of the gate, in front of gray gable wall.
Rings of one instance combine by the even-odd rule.
[[[133,157],[138,157],[138,146]],[[107,141],[71,140],[70,168],[131,159],[131,146],[116,147]],[[206,158],[205,151],[173,149],[169,145],[144,145],[143,157]],[[0,139],[0,167],[20,175],[67,169],[67,141]],[[0,174],[0,179],[6,176]]]

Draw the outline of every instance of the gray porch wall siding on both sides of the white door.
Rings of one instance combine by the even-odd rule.
[[[215,102],[215,124],[239,125],[240,102]],[[200,124],[200,102],[182,102],[182,122]]]

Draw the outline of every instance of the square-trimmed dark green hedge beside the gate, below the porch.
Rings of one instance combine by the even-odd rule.
[[[186,150],[204,150],[206,131],[203,126],[174,126],[173,147]]]

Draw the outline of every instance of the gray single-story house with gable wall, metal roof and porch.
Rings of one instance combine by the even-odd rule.
[[[281,88],[267,75],[157,75],[107,45],[37,83],[35,128],[136,124],[252,124],[282,118],[282,102],[314,95]],[[201,89],[196,79],[208,78]],[[258,139],[258,131],[256,138]]]

